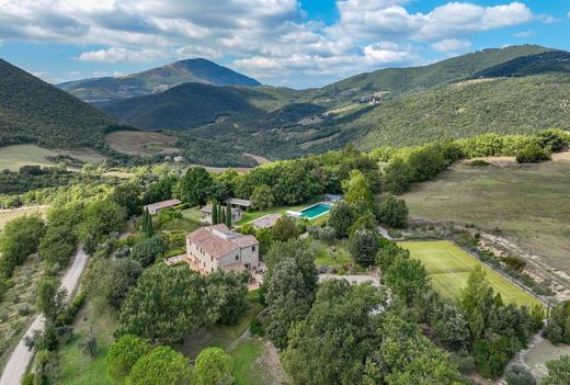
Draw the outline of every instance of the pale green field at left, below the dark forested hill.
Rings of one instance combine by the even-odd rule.
[[[0,147],[0,170],[18,171],[22,166],[26,165],[57,166],[46,157],[56,157],[58,155],[70,156],[91,163],[103,160],[103,157],[93,150],[69,151],[47,149],[35,145],[15,145]]]

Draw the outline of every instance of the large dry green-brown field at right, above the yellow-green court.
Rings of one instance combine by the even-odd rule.
[[[520,166],[460,163],[403,195],[412,217],[475,224],[570,274],[570,156]]]

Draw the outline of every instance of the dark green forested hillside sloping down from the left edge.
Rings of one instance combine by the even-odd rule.
[[[0,59],[0,146],[95,147],[104,144],[105,128],[113,123],[95,107]]]

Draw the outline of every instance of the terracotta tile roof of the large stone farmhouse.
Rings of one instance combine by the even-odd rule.
[[[187,239],[214,258],[221,258],[241,248],[259,245],[255,237],[233,233],[224,224],[201,227],[189,234]]]

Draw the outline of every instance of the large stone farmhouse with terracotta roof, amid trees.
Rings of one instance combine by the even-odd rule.
[[[186,262],[202,274],[216,270],[250,271],[260,267],[259,241],[226,225],[198,228],[186,236]]]

